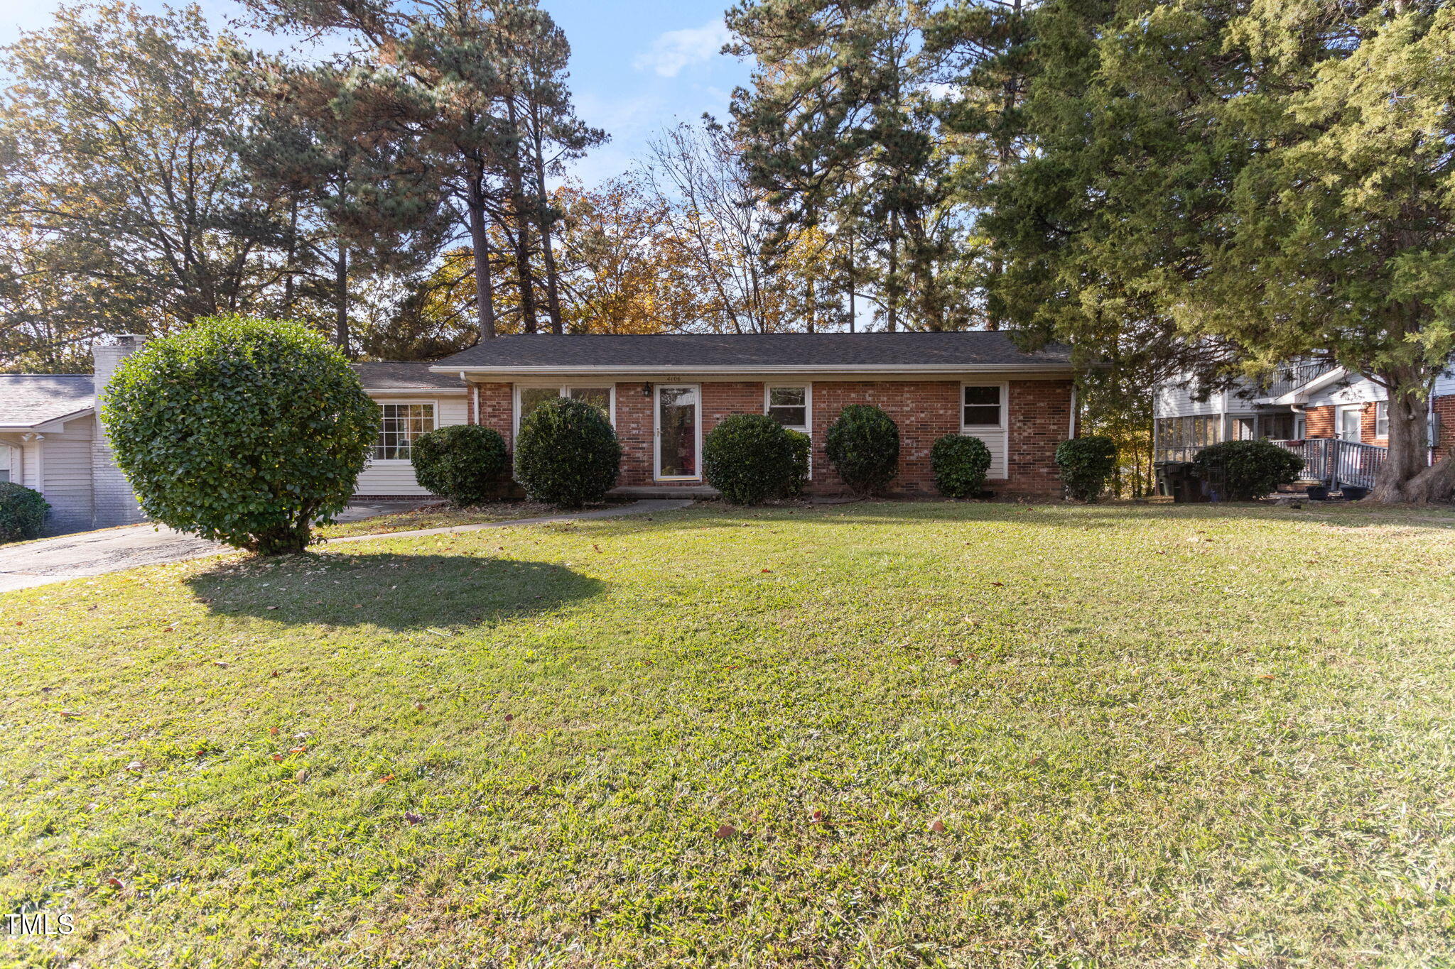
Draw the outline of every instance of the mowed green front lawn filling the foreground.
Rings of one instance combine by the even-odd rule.
[[[1451,965],[1452,580],[1438,513],[854,504],[9,594],[0,911],[77,930],[0,954]]]

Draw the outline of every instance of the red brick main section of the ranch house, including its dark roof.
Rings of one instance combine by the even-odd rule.
[[[471,423],[514,449],[521,417],[570,395],[595,402],[623,445],[623,494],[701,494],[703,437],[729,414],[768,414],[812,437],[813,492],[844,485],[824,452],[848,404],[882,407],[899,426],[890,488],[933,494],[930,447],[979,437],[988,487],[1061,494],[1055,449],[1074,436],[1069,352],[1018,350],[1004,333],[781,333],[496,337],[439,360],[470,388]]]

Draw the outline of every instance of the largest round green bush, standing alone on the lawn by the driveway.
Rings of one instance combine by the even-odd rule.
[[[300,323],[243,317],[132,353],[100,417],[147,517],[262,555],[314,540],[378,433],[342,353]]]

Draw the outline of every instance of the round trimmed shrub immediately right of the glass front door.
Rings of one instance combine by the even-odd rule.
[[[725,417],[703,440],[707,484],[733,504],[761,504],[802,491],[800,447],[790,433],[767,414]]]

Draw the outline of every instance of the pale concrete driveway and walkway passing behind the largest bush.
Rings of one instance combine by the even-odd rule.
[[[418,529],[415,532],[351,535],[349,538],[330,539],[324,545],[314,548],[330,548],[345,542],[368,542],[372,539],[410,539],[428,535],[480,532],[483,529],[502,529],[512,524],[547,524],[550,522],[573,522],[582,519],[615,519],[629,514],[674,511],[677,508],[685,508],[690,504],[691,501],[685,500],[636,501],[615,508],[546,514],[534,519],[480,522],[479,524],[454,524],[441,529]],[[102,529],[99,532],[61,535],[54,539],[23,542],[10,548],[0,545],[0,593],[9,593],[17,588],[31,588],[35,585],[48,585],[51,583],[64,583],[70,578],[105,575],[108,572],[119,572],[127,568],[137,568],[138,565],[180,562],[227,551],[231,549],[226,545],[207,542],[195,535],[173,532],[166,527],[154,529],[150,524],[132,524],[122,529]]]

